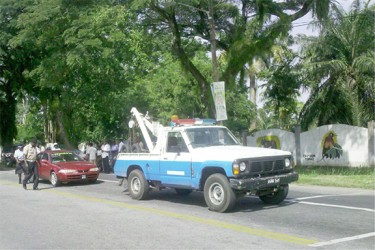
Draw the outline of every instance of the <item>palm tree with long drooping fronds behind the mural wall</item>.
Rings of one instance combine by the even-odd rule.
[[[335,9],[318,37],[302,39],[302,64],[312,88],[300,114],[303,129],[367,126],[375,118],[375,5],[369,2],[355,1],[349,13]]]

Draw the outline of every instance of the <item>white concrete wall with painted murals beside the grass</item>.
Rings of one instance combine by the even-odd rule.
[[[290,151],[298,165],[360,167],[375,165],[374,122],[368,128],[343,124],[325,125],[296,133],[280,129],[258,131],[247,145]]]

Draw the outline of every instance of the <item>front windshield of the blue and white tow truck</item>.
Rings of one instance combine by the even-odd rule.
[[[223,127],[188,128],[186,133],[193,148],[239,144],[232,133]]]

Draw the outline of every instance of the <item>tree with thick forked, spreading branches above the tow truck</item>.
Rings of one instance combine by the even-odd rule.
[[[210,41],[212,29],[209,18],[214,19],[216,44],[226,54],[225,65],[219,67],[220,79],[225,80],[228,88],[244,85],[237,82],[237,76],[246,70],[253,59],[270,50],[276,38],[287,35],[291,22],[313,11],[318,18],[327,16],[331,1],[132,1],[138,8],[140,22],[151,29],[155,36],[171,31],[172,49],[182,67],[190,72],[201,92],[202,103],[211,112],[213,103],[209,83],[210,76],[205,76],[201,69],[192,62],[194,53],[190,44],[195,46],[197,37],[200,41]],[[170,4],[173,2],[174,4]],[[166,4],[167,3],[167,4]],[[210,6],[209,6],[210,4]],[[207,10],[213,6],[213,16]],[[289,14],[291,13],[291,14]],[[206,43],[204,43],[206,44]],[[206,51],[209,51],[208,46]],[[240,77],[244,80],[244,77]],[[243,86],[240,89],[245,89]]]

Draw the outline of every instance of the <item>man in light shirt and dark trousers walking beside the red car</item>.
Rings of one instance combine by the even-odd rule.
[[[39,172],[38,172],[38,165],[36,163],[36,155],[37,155],[37,148],[36,148],[36,139],[31,139],[30,143],[27,144],[23,149],[24,154],[24,162],[25,166],[27,168],[27,176],[23,179],[23,188],[27,189],[27,182],[30,180],[30,178],[34,175],[34,184],[33,184],[33,190],[39,190],[38,184],[39,184]]]

